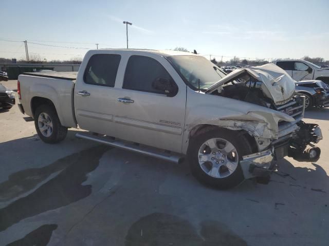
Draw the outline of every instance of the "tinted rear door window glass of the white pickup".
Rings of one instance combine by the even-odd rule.
[[[120,55],[96,54],[90,57],[84,72],[86,84],[114,87],[120,64]]]

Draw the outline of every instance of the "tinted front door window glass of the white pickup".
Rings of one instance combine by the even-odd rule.
[[[167,70],[157,60],[141,55],[129,58],[122,88],[168,95],[177,93],[173,89],[177,89],[177,85]]]

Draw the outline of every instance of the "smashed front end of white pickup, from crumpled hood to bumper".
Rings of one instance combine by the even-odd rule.
[[[233,71],[207,90],[208,94],[228,97],[268,108],[244,115],[219,119],[218,126],[244,130],[254,137],[258,153],[240,161],[246,179],[268,176],[276,169],[273,160],[285,156],[297,161],[317,161],[322,139],[316,124],[306,124],[304,96],[295,93],[295,82],[275,65]]]

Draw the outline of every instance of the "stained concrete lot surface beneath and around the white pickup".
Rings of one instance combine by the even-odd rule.
[[[16,89],[16,81],[3,82]],[[0,112],[1,245],[328,245],[329,109],[317,163],[280,161],[267,185],[206,188],[188,163],[67,138],[47,145],[15,105]]]

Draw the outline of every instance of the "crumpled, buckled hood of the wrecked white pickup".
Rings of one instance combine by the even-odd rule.
[[[218,87],[245,72],[262,82],[261,89],[264,95],[271,98],[276,105],[285,104],[295,92],[296,81],[286,71],[275,64],[269,63],[253,68],[236,69],[209,87],[205,93],[213,92]]]

